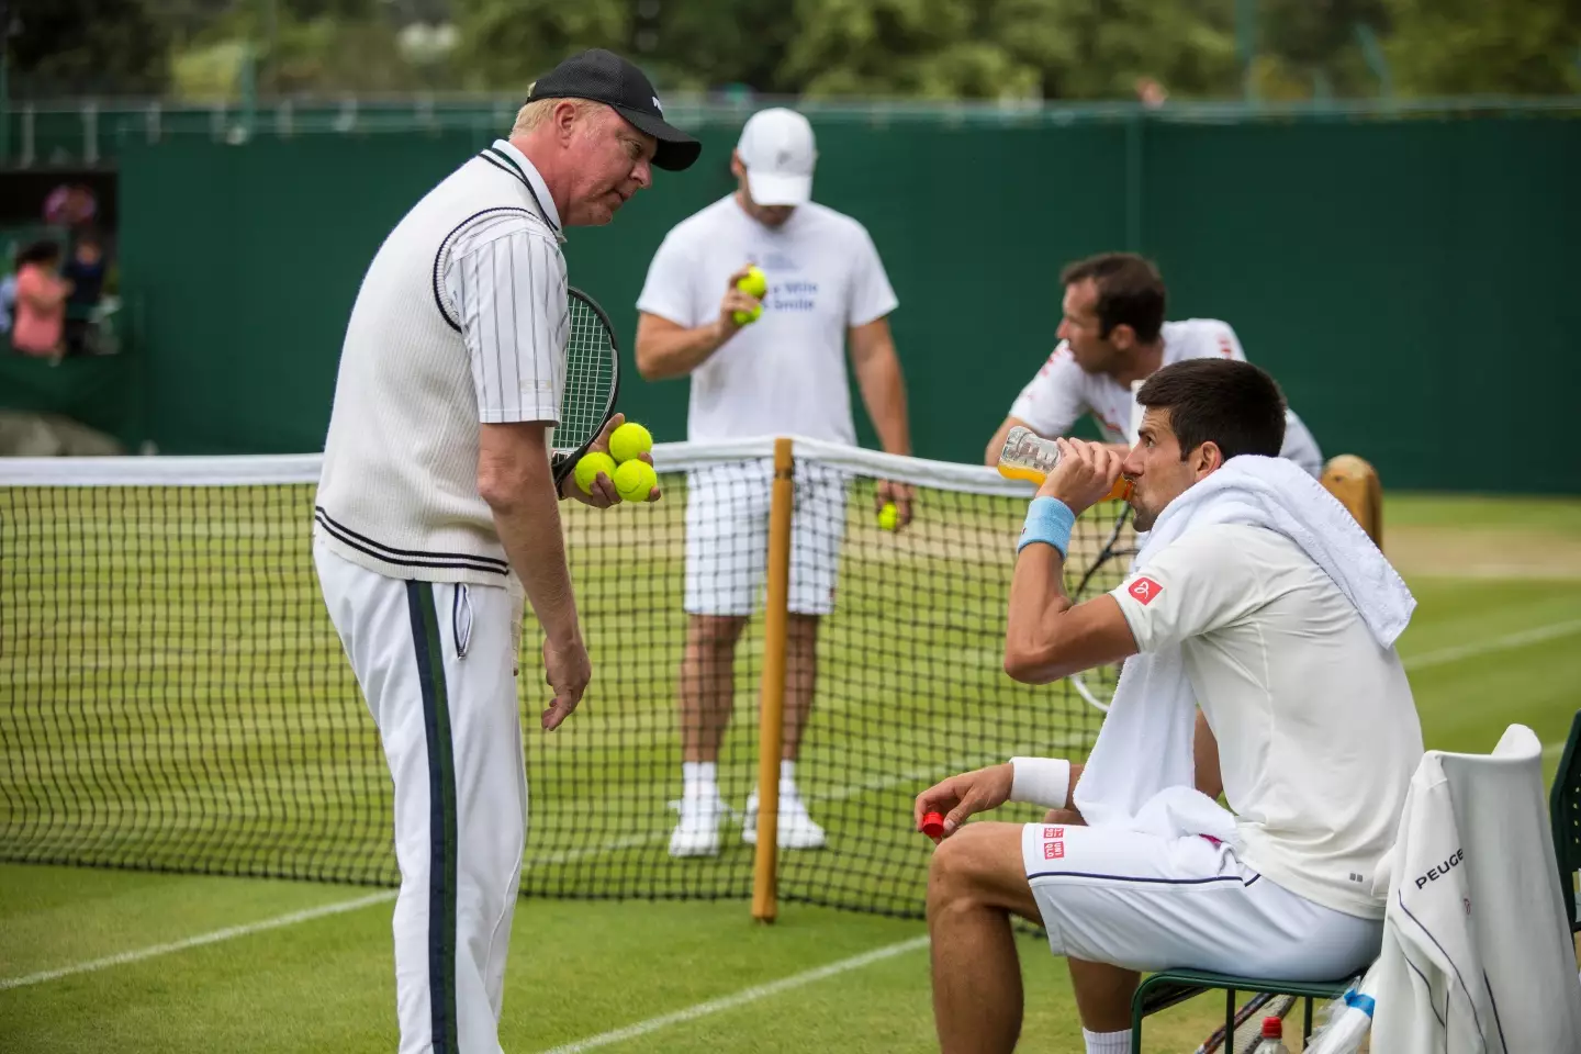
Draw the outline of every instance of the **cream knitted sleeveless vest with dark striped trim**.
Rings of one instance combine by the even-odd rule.
[[[495,210],[542,215],[515,174],[473,158],[368,265],[346,324],[313,536],[392,578],[520,593],[477,493],[477,393],[443,272],[457,229]]]

